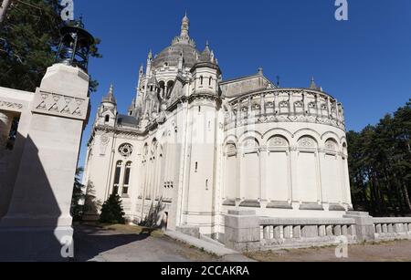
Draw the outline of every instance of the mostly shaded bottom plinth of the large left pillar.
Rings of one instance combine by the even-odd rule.
[[[72,227],[0,228],[0,262],[68,262],[73,257]]]

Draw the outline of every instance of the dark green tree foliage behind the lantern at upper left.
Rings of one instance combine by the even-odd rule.
[[[0,26],[0,86],[35,91],[56,57],[60,17],[59,0],[13,1]],[[91,57],[101,57],[96,39]],[[97,81],[91,80],[95,91]]]

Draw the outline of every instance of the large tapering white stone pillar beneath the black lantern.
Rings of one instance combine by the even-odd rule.
[[[13,196],[0,222],[0,260],[73,257],[69,210],[89,116],[89,81],[78,67],[56,64],[37,88]]]

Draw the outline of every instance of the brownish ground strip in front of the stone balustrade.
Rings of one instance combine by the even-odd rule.
[[[350,245],[346,259],[336,258],[335,247],[247,255],[260,262],[411,262],[411,241]]]

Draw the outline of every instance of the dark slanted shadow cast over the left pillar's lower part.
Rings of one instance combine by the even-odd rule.
[[[0,261],[67,261],[62,257],[60,240],[66,239],[70,227],[58,228],[61,210],[34,141],[17,133],[15,149],[7,155],[5,181],[0,186]],[[58,169],[59,162],[54,159]],[[50,164],[50,163],[48,163]],[[65,235],[67,234],[67,235]],[[68,251],[66,251],[68,252]],[[68,256],[68,255],[67,255]]]

